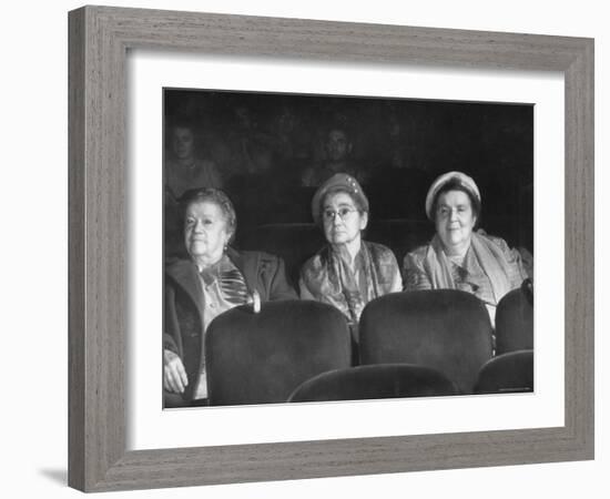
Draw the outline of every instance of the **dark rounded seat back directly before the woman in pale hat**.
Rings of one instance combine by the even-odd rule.
[[[360,317],[360,364],[417,364],[440,370],[460,393],[474,390],[491,358],[491,324],[482,302],[456,289],[394,293]]]

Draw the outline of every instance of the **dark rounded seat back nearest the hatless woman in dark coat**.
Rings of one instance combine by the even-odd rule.
[[[240,306],[207,328],[210,405],[284,403],[306,379],[350,366],[350,335],[340,312],[318,302]]]

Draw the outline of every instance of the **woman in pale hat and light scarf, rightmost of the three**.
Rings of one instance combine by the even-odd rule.
[[[426,215],[435,223],[433,241],[407,254],[405,288],[461,289],[487,306],[495,324],[496,306],[529,276],[520,254],[499,237],[475,231],[481,196],[477,184],[461,172],[440,175],[426,196]]]

